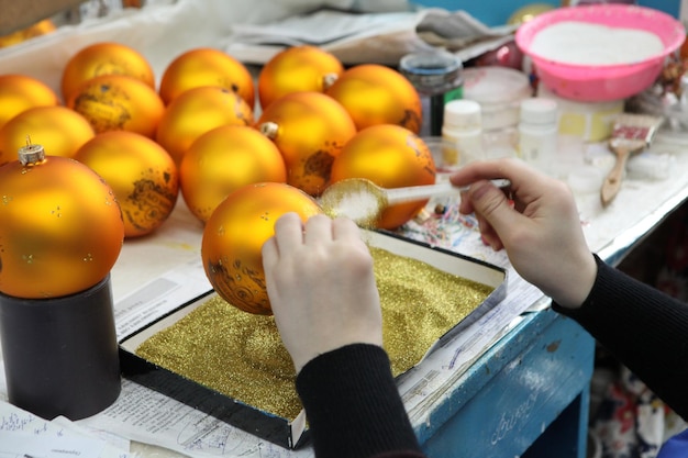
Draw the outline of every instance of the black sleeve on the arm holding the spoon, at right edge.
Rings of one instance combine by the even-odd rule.
[[[604,264],[570,316],[631,369],[664,402],[688,420],[688,304]]]

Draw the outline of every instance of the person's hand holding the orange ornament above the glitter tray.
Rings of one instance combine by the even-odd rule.
[[[297,373],[318,355],[348,344],[382,345],[373,257],[347,219],[282,215],[263,245],[268,298]]]

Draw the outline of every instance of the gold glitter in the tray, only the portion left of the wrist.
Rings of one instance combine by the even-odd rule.
[[[301,409],[274,317],[243,312],[220,297],[153,335],[136,354],[281,417],[295,418]]]

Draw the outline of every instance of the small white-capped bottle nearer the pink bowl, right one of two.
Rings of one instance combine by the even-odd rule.
[[[552,169],[558,141],[556,101],[525,99],[521,102],[519,122],[519,155],[533,167]]]

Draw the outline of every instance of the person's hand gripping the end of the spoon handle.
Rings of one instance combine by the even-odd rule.
[[[489,179],[511,180],[511,198]],[[562,306],[579,306],[592,289],[597,264],[585,241],[576,202],[568,187],[517,159],[476,161],[451,178],[471,185],[459,211],[474,213],[482,238],[507,249],[526,281]]]

